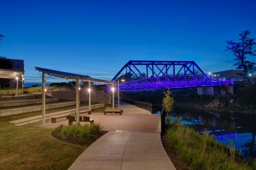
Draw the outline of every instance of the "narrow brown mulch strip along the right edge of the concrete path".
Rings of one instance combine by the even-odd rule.
[[[176,150],[170,143],[165,135],[161,136],[162,143],[166,153],[168,154],[170,160],[172,161],[173,165],[175,166],[176,170],[190,170],[190,167],[181,162],[180,154],[178,150]]]

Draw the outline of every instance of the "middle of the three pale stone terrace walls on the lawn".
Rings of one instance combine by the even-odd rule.
[[[66,107],[66,106],[72,106],[76,105],[76,102],[62,102],[62,103],[56,103],[56,104],[47,104],[45,106],[45,109],[56,109],[59,107]],[[40,111],[42,110],[42,106],[30,106],[30,107],[19,107],[14,109],[3,109],[0,110],[0,117],[2,116],[8,116],[8,115],[16,115],[20,113],[28,113],[32,111]]]

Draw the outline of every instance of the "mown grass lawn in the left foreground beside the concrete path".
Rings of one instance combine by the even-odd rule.
[[[0,117],[0,169],[68,169],[86,147],[55,139],[52,128],[35,127],[41,121],[24,126],[8,123],[30,116]]]

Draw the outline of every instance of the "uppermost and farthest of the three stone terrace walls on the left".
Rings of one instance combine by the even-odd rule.
[[[58,102],[58,98],[46,99],[46,103]],[[23,101],[13,101],[13,102],[0,102],[0,107],[11,107],[11,106],[23,106],[29,104],[41,104],[42,99],[39,100],[23,100]]]

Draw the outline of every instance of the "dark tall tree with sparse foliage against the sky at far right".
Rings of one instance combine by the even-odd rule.
[[[252,61],[247,61],[247,55],[256,56],[254,52],[254,45],[256,42],[254,41],[255,38],[249,38],[248,35],[250,34],[250,30],[246,29],[242,33],[239,34],[240,42],[236,43],[234,41],[227,41],[226,51],[231,51],[235,56],[234,60],[236,63],[236,69],[243,69],[244,74],[248,74],[256,70],[254,66],[256,63]]]

